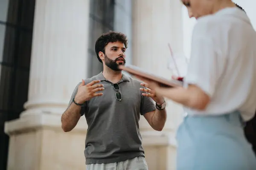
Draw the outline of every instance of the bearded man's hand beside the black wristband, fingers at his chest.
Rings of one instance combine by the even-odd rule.
[[[84,79],[78,87],[78,91],[75,96],[75,102],[82,104],[95,96],[102,96],[103,93],[96,93],[98,91],[103,91],[103,85],[97,84],[100,80],[93,80],[92,82],[85,85]]]

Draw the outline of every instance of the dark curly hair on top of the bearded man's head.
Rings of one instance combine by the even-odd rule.
[[[102,60],[99,58],[99,52],[102,51],[105,54],[105,47],[109,42],[122,42],[127,48],[128,40],[125,34],[121,32],[110,31],[108,33],[102,34],[95,43],[95,52],[99,59],[99,62]]]

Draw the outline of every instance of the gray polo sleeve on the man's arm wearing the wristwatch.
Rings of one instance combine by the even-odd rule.
[[[141,88],[145,88],[142,86]],[[144,115],[145,113],[156,110],[154,100],[151,97],[142,96],[141,105],[140,105],[140,114]]]

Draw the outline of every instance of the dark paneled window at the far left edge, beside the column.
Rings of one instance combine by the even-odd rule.
[[[35,0],[0,0],[0,169],[5,170],[9,137],[4,122],[24,110],[29,84]]]

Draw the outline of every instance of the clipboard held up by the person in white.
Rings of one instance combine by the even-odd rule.
[[[169,80],[165,78],[158,77],[154,74],[146,73],[145,71],[142,71],[141,68],[136,67],[134,65],[125,66],[125,65],[119,65],[118,66],[120,70],[126,71],[129,74],[132,74],[134,76],[140,76],[144,79],[152,80],[154,82],[157,82],[161,87],[166,88],[174,88],[174,87],[182,87],[183,82],[178,80]]]

